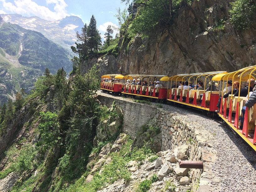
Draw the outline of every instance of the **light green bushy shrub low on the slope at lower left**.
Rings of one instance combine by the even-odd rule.
[[[24,172],[31,170],[37,166],[35,161],[35,155],[37,151],[33,145],[30,143],[24,144],[20,150],[18,150],[14,145],[7,152],[6,155],[11,161],[10,169],[13,172]]]

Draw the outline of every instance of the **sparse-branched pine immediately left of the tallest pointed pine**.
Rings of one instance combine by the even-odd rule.
[[[74,53],[78,53],[79,57],[81,59],[85,59],[86,56],[88,56],[88,36],[87,36],[87,24],[85,24],[82,28],[82,33],[79,34],[77,32],[77,41],[80,41],[81,43],[77,43],[76,47],[71,46],[71,49]]]

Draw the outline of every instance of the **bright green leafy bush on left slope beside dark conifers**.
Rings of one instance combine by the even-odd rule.
[[[38,125],[41,139],[37,142],[37,146],[41,146],[43,150],[53,147],[61,139],[60,125],[58,115],[51,112],[40,112],[41,123]]]

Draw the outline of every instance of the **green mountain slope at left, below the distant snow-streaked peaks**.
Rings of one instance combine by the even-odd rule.
[[[3,22],[0,17],[0,104],[14,99],[20,88],[29,92],[49,68],[70,72],[72,55],[39,32]]]

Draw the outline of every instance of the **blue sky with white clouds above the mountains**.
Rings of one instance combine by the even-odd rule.
[[[76,15],[85,23],[94,15],[101,34],[108,24],[118,25],[114,15],[119,7],[123,10],[127,5],[120,0],[0,0],[0,14],[18,13],[52,21]]]

